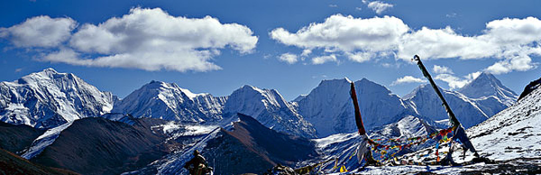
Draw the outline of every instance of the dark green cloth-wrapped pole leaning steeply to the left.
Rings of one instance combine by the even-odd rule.
[[[434,88],[434,91],[436,91],[436,94],[438,94],[438,97],[443,102],[442,105],[444,106],[445,111],[447,112],[447,115],[449,115],[449,119],[451,120],[451,124],[454,127],[453,140],[458,139],[463,144],[463,146],[466,148],[466,150],[470,150],[471,152],[473,152],[476,155],[476,157],[479,157],[479,154],[477,153],[477,151],[473,147],[470,139],[468,139],[468,137],[466,135],[466,132],[464,130],[464,127],[460,124],[457,117],[454,116],[453,111],[451,111],[451,108],[447,104],[447,101],[445,101],[445,99],[443,98],[443,95],[441,94],[438,86],[436,85],[434,80],[432,80],[432,76],[430,76],[430,74],[426,70],[426,68],[423,65],[423,62],[421,62],[421,59],[419,58],[419,56],[418,55],[413,56],[412,61],[417,61],[417,66],[419,66],[419,68],[421,69],[421,72],[423,72],[423,75],[426,77],[426,79],[428,79],[428,82],[430,82],[430,85],[432,85],[432,88]],[[449,151],[447,153],[446,158],[445,158],[445,160],[449,161],[449,163],[452,162],[451,154],[452,154],[452,151]]]

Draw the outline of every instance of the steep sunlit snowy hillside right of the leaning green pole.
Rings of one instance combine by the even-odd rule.
[[[541,157],[541,89],[467,131],[482,155],[507,160]]]

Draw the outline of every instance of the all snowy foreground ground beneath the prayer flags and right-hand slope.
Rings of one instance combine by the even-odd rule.
[[[473,164],[465,166],[368,166],[357,168],[349,173],[355,174],[415,174],[431,172],[438,174],[463,173],[541,173],[541,89],[533,90],[513,106],[479,125],[467,129],[467,135],[476,150],[496,164]],[[352,136],[353,137],[353,136]],[[325,140],[325,139],[322,139]],[[340,141],[340,139],[336,139]],[[330,145],[328,142],[326,145]],[[441,145],[439,157],[443,158],[448,144]],[[453,160],[462,163],[473,158],[471,152],[465,157],[463,150],[453,153]],[[429,164],[436,160],[434,147],[426,148],[398,158],[406,164]]]

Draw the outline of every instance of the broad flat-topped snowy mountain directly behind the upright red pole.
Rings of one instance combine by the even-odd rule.
[[[357,130],[349,94],[350,82],[346,78],[322,80],[318,87],[298,101],[300,114],[318,129],[320,137]],[[399,96],[384,86],[367,79],[354,84],[367,129],[395,122],[397,115],[407,110]]]

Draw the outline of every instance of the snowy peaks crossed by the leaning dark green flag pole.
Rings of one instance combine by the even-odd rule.
[[[440,89],[458,120],[468,128],[511,106],[517,95],[490,73],[481,73],[458,91]],[[430,85],[421,85],[404,100],[415,113],[434,121],[447,119],[441,100]]]

